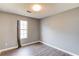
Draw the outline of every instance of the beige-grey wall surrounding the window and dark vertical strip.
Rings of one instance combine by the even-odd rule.
[[[40,39],[39,20],[0,12],[0,50],[17,46],[17,20],[28,21],[28,38],[22,44]]]

